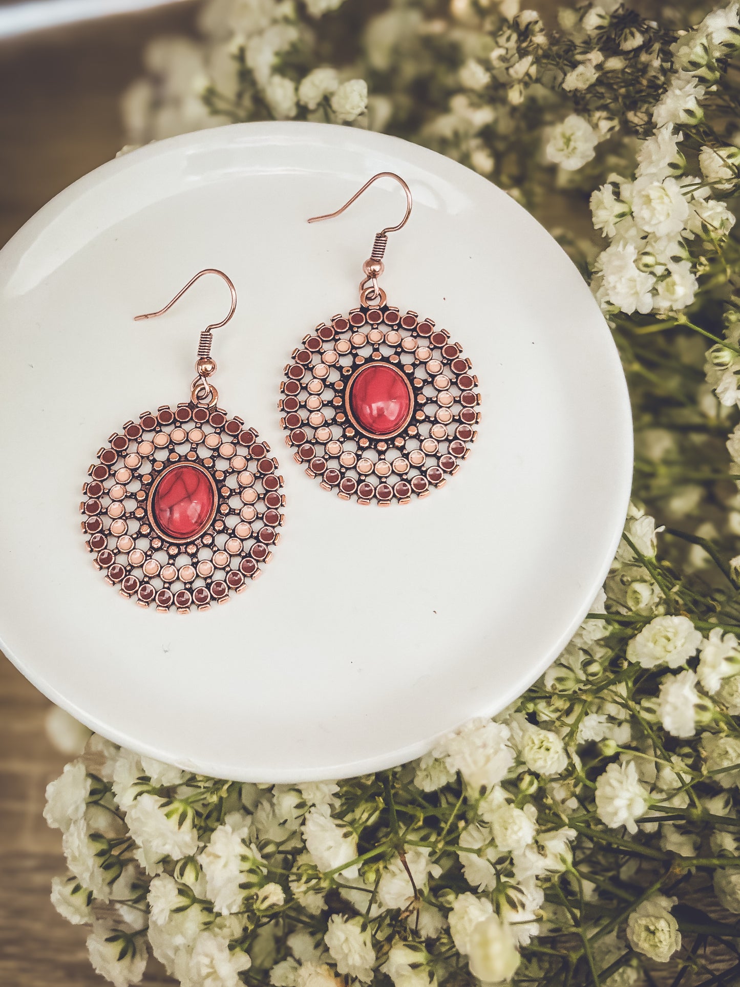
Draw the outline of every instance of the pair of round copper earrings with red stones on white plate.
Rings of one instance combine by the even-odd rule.
[[[363,264],[357,308],[335,315],[293,350],[278,408],[286,443],[310,477],[358,503],[408,503],[444,486],[476,437],[478,380],[462,347],[430,319],[401,314],[378,283],[388,235],[406,212],[375,236]],[[207,609],[240,592],[269,562],[284,519],[277,460],[256,428],[218,406],[212,383],[213,331],[237,307],[231,279],[213,267],[198,271],[163,309],[164,315],[205,274],[229,286],[225,319],[201,333],[190,397],[126,421],[98,451],[80,505],[94,563],[122,595],[157,610]]]

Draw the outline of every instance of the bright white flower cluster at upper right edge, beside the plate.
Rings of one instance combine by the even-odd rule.
[[[713,193],[740,188],[740,149],[705,144],[698,156],[700,178],[687,174],[680,145],[681,127],[703,119],[707,60],[738,48],[737,3],[707,15],[681,38],[674,45],[675,72],[653,110],[655,129],[637,150],[633,178],[612,175],[592,193],[594,226],[611,240],[592,281],[606,312],[665,315],[686,309],[696,297],[700,269],[692,242],[698,240],[700,251],[706,245],[716,249],[734,226],[734,215]]]

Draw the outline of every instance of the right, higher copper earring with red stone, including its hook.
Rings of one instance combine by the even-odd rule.
[[[340,215],[380,178],[406,192],[404,218],[376,234],[359,307],[321,323],[293,350],[279,408],[286,443],[310,477],[343,499],[386,506],[426,496],[457,473],[476,438],[480,396],[462,346],[431,319],[387,305],[378,284],[388,234],[411,213],[406,182],[381,172],[340,209],[309,222]]]

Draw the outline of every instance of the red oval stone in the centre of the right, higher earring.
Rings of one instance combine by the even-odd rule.
[[[404,374],[390,363],[371,363],[354,376],[347,411],[368,435],[394,435],[411,417],[411,393]]]

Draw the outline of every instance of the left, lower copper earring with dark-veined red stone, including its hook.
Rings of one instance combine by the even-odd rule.
[[[217,407],[210,381],[213,330],[225,326],[237,293],[221,270],[200,270],[159,312],[164,315],[204,274],[229,285],[231,308],[198,342],[190,400],[126,421],[88,471],[80,510],[97,569],[123,596],[157,610],[207,610],[240,592],[269,562],[282,524],[282,477],[269,446],[242,418]]]

